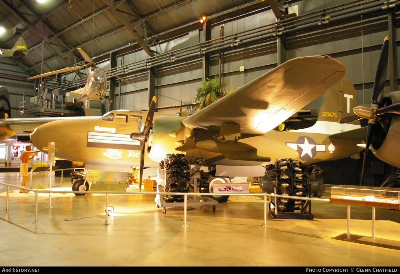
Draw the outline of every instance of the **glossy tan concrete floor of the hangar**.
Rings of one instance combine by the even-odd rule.
[[[18,174],[0,182],[19,185]],[[34,176],[45,185],[47,176]],[[54,182],[55,181],[55,182]],[[53,177],[53,190],[70,190]],[[29,184],[28,184],[29,185]],[[137,192],[129,188],[128,192]],[[152,195],[109,195],[114,212],[105,225],[105,196],[39,196],[0,185],[1,266],[399,266],[398,210],[352,206],[346,240],[347,207],[313,201],[313,220],[273,219],[263,227],[263,200],[230,196],[227,203],[192,207],[184,226],[182,208],[163,214]],[[257,191],[255,191],[257,192]],[[329,199],[327,189],[322,198]]]

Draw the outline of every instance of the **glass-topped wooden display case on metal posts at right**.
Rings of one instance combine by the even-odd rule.
[[[400,209],[400,188],[373,186],[332,186],[330,202],[354,206]]]

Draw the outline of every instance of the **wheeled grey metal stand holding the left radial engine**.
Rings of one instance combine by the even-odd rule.
[[[167,192],[162,191],[162,186],[157,184],[157,193],[168,194]],[[210,197],[207,196],[197,196],[197,195],[188,195],[186,196],[186,205],[187,206],[212,206],[212,212],[215,212],[215,206],[218,206],[218,202]],[[154,198],[154,202],[158,208],[162,207],[162,213],[166,214],[167,207],[176,207],[176,206],[184,206],[184,202],[166,202],[164,199],[164,195],[157,194]]]

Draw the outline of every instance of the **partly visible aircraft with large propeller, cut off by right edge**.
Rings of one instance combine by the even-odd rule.
[[[389,36],[386,36],[376,71],[372,90],[371,107],[357,106],[354,113],[360,118],[368,119],[366,144],[364,145],[364,161],[360,185],[364,180],[364,168],[368,151],[376,158],[400,168],[400,92],[394,91],[384,95],[386,70],[388,66]],[[344,122],[355,119],[349,117]]]

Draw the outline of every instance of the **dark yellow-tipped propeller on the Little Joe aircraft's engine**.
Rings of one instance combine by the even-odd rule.
[[[156,96],[153,97],[149,110],[147,112],[146,120],[143,122],[141,119],[138,122],[139,132],[133,132],[130,134],[132,140],[140,141],[141,153],[140,153],[140,177],[139,177],[139,191],[142,188],[143,168],[144,168],[144,148],[150,135],[150,128],[153,123],[154,112],[156,111]]]

